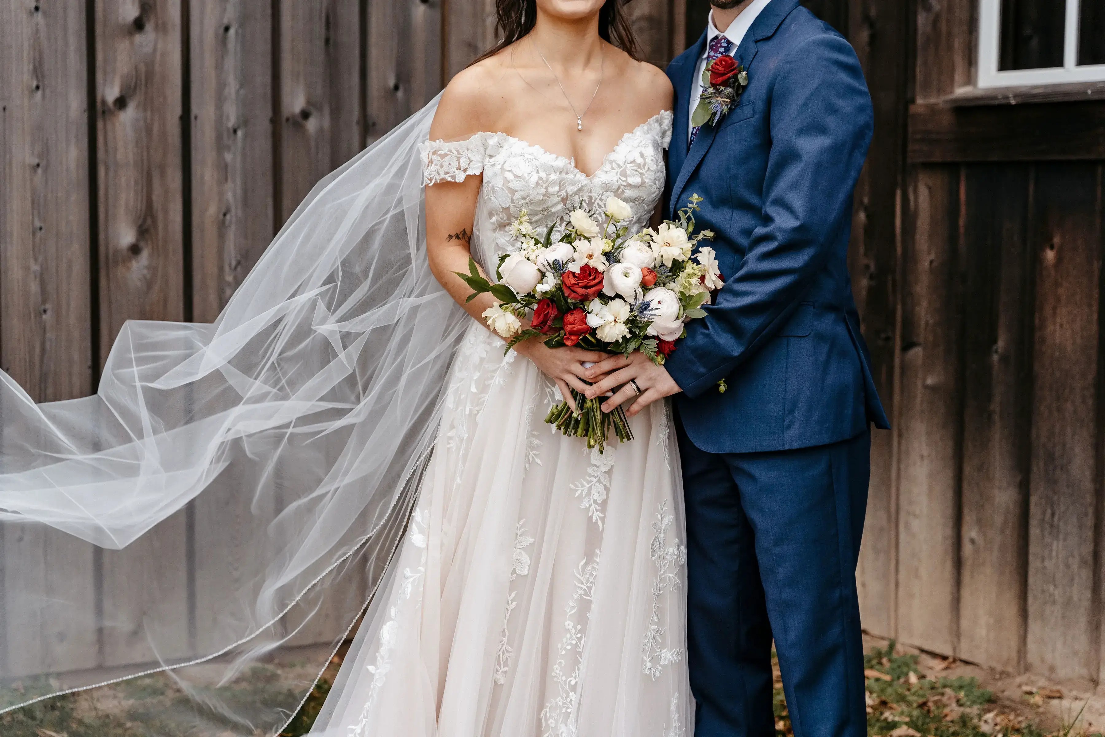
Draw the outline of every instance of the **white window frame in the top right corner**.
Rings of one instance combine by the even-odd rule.
[[[1092,2],[1098,0],[1091,0]],[[978,87],[1023,87],[1105,82],[1105,64],[1078,66],[1081,0],[1066,0],[1063,65],[1040,70],[998,71],[1001,60],[1001,0],[979,0]]]

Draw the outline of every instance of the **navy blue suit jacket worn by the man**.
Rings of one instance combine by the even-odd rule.
[[[683,429],[712,453],[781,451],[887,428],[848,273],[852,194],[873,110],[848,41],[799,0],[772,0],[734,53],[737,107],[687,150],[698,43],[675,86],[667,214],[705,198],[699,228],[725,286],[687,325],[666,367]],[[727,391],[718,391],[725,380]]]

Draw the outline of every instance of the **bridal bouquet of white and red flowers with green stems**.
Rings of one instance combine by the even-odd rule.
[[[472,287],[470,301],[485,292],[498,299],[483,316],[507,338],[507,350],[545,336],[550,348],[579,346],[625,356],[640,350],[663,364],[684,335],[684,323],[705,317],[702,305],[723,285],[714,250],[696,249],[714,236],[695,234],[699,202],[694,196],[678,220],[636,233],[622,224],[633,213],[615,197],[607,200],[604,212],[577,208],[544,234],[523,211],[512,225],[517,248],[501,256],[495,283],[472,260],[470,273],[456,275]],[[600,451],[611,428],[620,441],[633,439],[622,408],[608,413],[603,399],[587,399],[575,389],[572,396],[578,413],[561,401],[545,421],[566,435],[587,438],[587,446]]]

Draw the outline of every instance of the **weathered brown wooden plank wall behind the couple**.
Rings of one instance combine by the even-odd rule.
[[[894,430],[874,438],[865,627],[1101,680],[1105,104],[949,104],[972,74],[975,0],[806,4],[855,46],[876,114],[850,259]],[[493,6],[2,3],[0,366],[39,400],[76,397],[123,320],[211,320],[320,176],[491,44]],[[645,56],[696,39],[705,6],[634,0]],[[189,570],[9,535],[3,577],[64,560],[87,572],[91,608],[150,581],[123,614],[188,606],[202,641],[197,580],[234,575],[203,541],[240,513],[197,504],[166,527],[156,546],[194,550]],[[162,600],[161,580],[190,581],[171,589],[192,600]],[[8,625],[12,670],[51,662],[49,617]],[[124,641],[65,646],[90,666],[127,659]]]

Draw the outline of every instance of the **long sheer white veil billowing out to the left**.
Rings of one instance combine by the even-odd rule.
[[[425,257],[436,103],[319,182],[214,324],[127,323],[84,399],[0,372],[0,713],[107,683],[161,698],[149,734],[255,735],[302,704],[407,523],[469,319]]]

